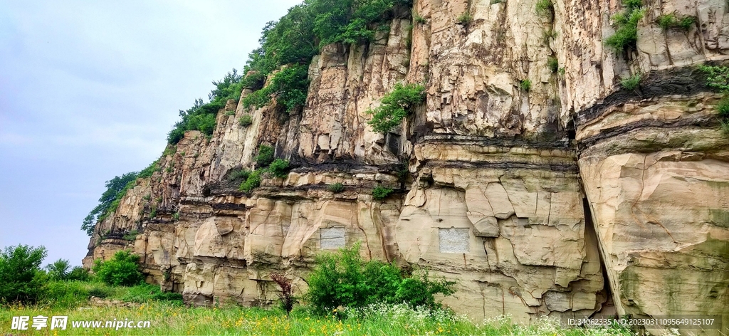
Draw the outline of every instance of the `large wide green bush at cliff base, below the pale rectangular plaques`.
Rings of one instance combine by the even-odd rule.
[[[399,270],[378,260],[364,262],[359,243],[338,254],[319,254],[308,280],[308,302],[319,313],[339,306],[364,307],[375,303],[402,303],[437,308],[434,294],[451,295],[453,281],[432,280],[427,271]]]

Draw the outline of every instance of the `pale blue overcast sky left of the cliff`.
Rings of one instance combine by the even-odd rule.
[[[300,0],[0,0],[0,247],[81,265],[104,182],[160,156],[178,110]]]

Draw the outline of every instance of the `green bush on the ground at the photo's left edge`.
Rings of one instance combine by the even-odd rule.
[[[43,294],[44,246],[8,246],[0,252],[0,302],[36,302]]]

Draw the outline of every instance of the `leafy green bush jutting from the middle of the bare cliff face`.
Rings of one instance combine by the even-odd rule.
[[[424,101],[423,85],[397,83],[393,90],[382,98],[380,106],[367,110],[368,114],[373,115],[367,124],[371,125],[375,132],[389,132],[400,125],[402,120],[413,112],[415,106]]]

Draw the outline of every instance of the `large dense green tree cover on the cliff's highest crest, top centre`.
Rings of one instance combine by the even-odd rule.
[[[321,46],[370,42],[378,29],[387,28],[383,23],[397,7],[411,4],[410,0],[308,0],[292,7],[263,28],[260,47],[249,54],[242,82],[255,92],[243,104],[260,108],[276,99],[286,112],[299,109],[306,101],[308,65]]]

